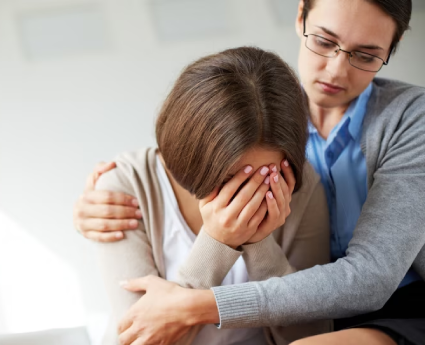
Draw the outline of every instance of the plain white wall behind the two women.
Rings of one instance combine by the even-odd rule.
[[[161,6],[167,1],[162,0]],[[173,1],[188,6],[201,0]],[[295,18],[296,3],[281,1],[287,7],[279,12],[274,10],[274,1],[202,0],[205,8],[214,3],[223,7],[225,15],[217,14],[221,28],[216,33],[211,27],[194,27],[194,35],[183,30],[180,39],[166,36],[166,28],[158,26],[152,2],[147,0],[0,1],[0,213],[63,267],[74,270],[89,320],[107,308],[92,246],[72,226],[73,202],[86,175],[100,160],[154,144],[156,110],[188,62],[228,47],[257,45],[274,50],[295,67],[299,43],[293,20],[287,18]],[[94,18],[92,10],[97,11],[97,22],[90,28],[87,21]],[[93,37],[87,38],[93,40],[93,46],[77,44],[67,49],[61,46],[64,36],[60,35],[39,41],[38,48],[31,46],[37,41],[31,35],[43,29],[37,20],[68,18],[67,11],[88,13],[82,25],[88,25],[88,32],[93,29]],[[415,11],[412,27],[381,75],[425,86],[424,11]],[[57,43],[46,46],[49,42]],[[10,222],[0,223],[1,234],[14,231],[4,225]],[[33,261],[32,254],[22,255],[29,263]],[[3,265],[15,267],[15,262]],[[8,279],[1,267],[0,280]],[[23,277],[31,269],[40,270],[43,277],[47,272],[54,280],[62,266],[22,267]],[[72,279],[72,274],[66,279]],[[36,297],[31,282],[28,286],[19,308],[28,308],[24,302]],[[55,288],[46,282],[46,289]],[[76,296],[79,293],[74,292]],[[66,298],[65,293],[60,296]],[[3,293],[5,298],[8,296]],[[78,313],[75,310],[75,315]],[[0,332],[13,330],[4,321],[7,318],[3,311]],[[63,321],[67,322],[69,325],[63,326],[74,326],[75,319]]]

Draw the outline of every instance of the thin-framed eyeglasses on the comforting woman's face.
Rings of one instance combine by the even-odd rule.
[[[341,47],[320,35],[315,34],[306,34],[305,33],[305,16],[304,16],[304,32],[303,35],[307,37],[305,41],[305,46],[307,49],[311,50],[317,55],[321,55],[327,58],[333,58],[338,55],[340,51],[348,54],[350,65],[366,72],[378,72],[383,65],[388,65],[390,61],[390,56],[393,50],[391,46],[390,53],[388,55],[387,61],[384,61],[378,56],[364,53],[358,50],[353,50],[351,52],[341,49]]]

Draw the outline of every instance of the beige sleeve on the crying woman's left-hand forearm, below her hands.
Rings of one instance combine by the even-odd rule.
[[[195,289],[209,289],[221,285],[242,253],[201,230],[189,257],[179,269],[178,283]],[[206,267],[208,269],[205,269]]]

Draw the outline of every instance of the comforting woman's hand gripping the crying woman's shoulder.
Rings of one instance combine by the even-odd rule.
[[[137,228],[142,214],[131,195],[95,190],[99,177],[116,167],[114,162],[99,163],[87,177],[83,194],[74,205],[74,227],[84,237],[98,242],[115,242],[124,238],[124,230]]]

